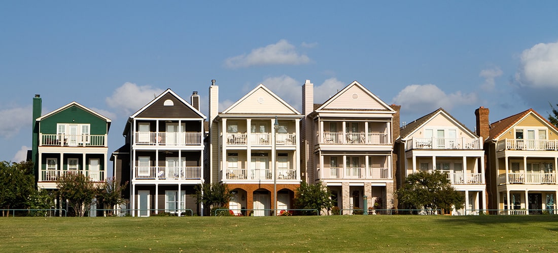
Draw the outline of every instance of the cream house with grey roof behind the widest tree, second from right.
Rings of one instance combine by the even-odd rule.
[[[401,127],[395,147],[398,185],[417,171],[446,173],[455,190],[465,195],[464,209],[453,214],[479,214],[487,203],[482,143],[482,138],[439,108]]]

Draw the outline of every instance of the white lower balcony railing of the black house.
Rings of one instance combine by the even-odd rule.
[[[201,179],[201,167],[144,167],[134,168],[133,179],[187,180]]]

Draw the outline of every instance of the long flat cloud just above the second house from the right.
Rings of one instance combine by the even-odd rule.
[[[434,111],[437,108],[451,110],[451,108],[459,105],[474,105],[478,102],[475,93],[455,93],[446,94],[436,85],[409,85],[401,90],[393,103],[401,105],[405,108],[404,112],[425,112]]]

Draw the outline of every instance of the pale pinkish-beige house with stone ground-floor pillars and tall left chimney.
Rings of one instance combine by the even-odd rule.
[[[399,108],[357,81],[320,104],[314,104],[314,85],[307,80],[302,86],[302,175],[309,183],[324,183],[343,214],[374,202],[393,207]]]

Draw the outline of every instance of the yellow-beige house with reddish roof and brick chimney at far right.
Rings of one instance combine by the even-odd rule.
[[[475,111],[487,154],[489,209],[499,214],[555,213],[558,128],[532,109],[488,124]]]

